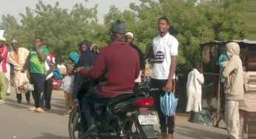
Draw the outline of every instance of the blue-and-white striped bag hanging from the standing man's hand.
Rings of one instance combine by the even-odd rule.
[[[178,98],[175,98],[172,92],[167,92],[164,95],[160,95],[160,103],[161,111],[166,117],[170,117],[175,114]]]

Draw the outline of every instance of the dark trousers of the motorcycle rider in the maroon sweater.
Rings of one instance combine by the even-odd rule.
[[[109,101],[110,98],[104,98],[98,95],[98,92],[94,88],[90,89],[87,94],[83,96],[81,104],[87,128],[95,124],[95,121],[104,119],[104,113]]]

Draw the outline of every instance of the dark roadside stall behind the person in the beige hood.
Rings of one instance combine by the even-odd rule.
[[[240,103],[241,116],[244,115],[243,131],[249,138],[256,138],[256,41],[233,40],[240,45],[240,58],[244,69],[245,98]],[[200,45],[203,75],[203,107],[216,117],[215,126],[224,120],[223,78],[220,77],[222,67],[219,62],[225,52],[225,45],[230,41],[212,41]],[[220,61],[219,61],[220,60]],[[248,127],[248,128],[247,128]]]

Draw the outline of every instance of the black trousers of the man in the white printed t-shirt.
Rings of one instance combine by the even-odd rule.
[[[151,78],[151,80],[149,82],[149,87],[160,90],[160,93],[153,94],[153,98],[155,101],[155,103],[154,103],[155,108],[158,111],[161,132],[166,132],[167,127],[168,127],[168,133],[173,134],[174,122],[175,122],[174,116],[166,118],[164,113],[161,111],[160,95],[164,95],[166,93],[163,90],[163,87],[166,85],[166,82],[167,82],[167,80],[157,80],[157,79]]]

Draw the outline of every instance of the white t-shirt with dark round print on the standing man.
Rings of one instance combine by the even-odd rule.
[[[152,78],[165,80],[169,77],[171,55],[178,55],[178,40],[167,33],[161,38],[160,35],[152,41],[154,52],[154,68]],[[175,75],[174,75],[175,77]]]

